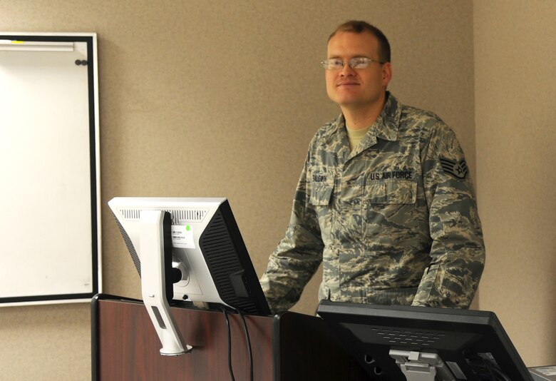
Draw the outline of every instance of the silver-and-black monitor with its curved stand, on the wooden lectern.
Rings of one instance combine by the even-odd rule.
[[[226,198],[122,197],[108,205],[140,275],[163,355],[191,349],[175,327],[171,303],[270,315]]]

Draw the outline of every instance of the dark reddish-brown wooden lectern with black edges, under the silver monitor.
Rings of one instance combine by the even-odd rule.
[[[249,351],[240,316],[229,313],[231,351],[224,313],[172,308],[191,353],[160,355],[160,341],[139,300],[97,295],[92,305],[93,381],[249,380]],[[246,316],[253,380],[369,380],[318,317],[283,313]]]

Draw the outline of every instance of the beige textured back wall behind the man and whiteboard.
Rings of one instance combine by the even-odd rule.
[[[4,31],[98,33],[103,205],[116,195],[230,198],[259,275],[284,234],[309,140],[338,113],[318,63],[342,21],[383,29],[393,47],[391,91],[451,125],[475,174],[474,14],[471,1],[442,0],[0,0]],[[490,181],[478,179],[481,205]],[[138,298],[138,276],[106,206],[102,232],[105,293]],[[317,285],[295,310],[314,312]],[[484,289],[488,308],[512,308],[513,300],[493,304]],[[549,315],[535,330],[547,329]],[[2,380],[88,380],[89,327],[88,305],[0,308]],[[512,325],[510,336],[522,328]],[[553,352],[544,358],[556,362]]]

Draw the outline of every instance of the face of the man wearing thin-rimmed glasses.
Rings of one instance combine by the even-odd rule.
[[[354,69],[347,61],[366,57],[379,61],[379,41],[368,32],[338,32],[328,43],[328,59],[342,59],[344,68],[326,70],[326,93],[344,110],[356,110],[383,102],[391,79],[391,65],[371,62],[367,68]]]

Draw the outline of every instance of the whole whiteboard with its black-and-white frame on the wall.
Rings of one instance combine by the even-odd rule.
[[[0,306],[101,292],[96,34],[0,34]]]

